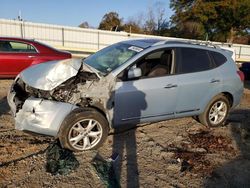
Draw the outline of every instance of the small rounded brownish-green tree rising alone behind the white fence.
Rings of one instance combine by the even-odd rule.
[[[118,13],[109,12],[103,16],[98,29],[118,30],[121,26],[122,26],[122,19],[119,18]]]

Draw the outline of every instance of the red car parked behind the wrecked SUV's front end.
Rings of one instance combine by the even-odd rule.
[[[23,69],[42,62],[71,58],[35,40],[0,37],[0,78],[15,77]]]

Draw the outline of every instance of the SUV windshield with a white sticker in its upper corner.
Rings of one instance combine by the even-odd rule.
[[[89,56],[84,63],[107,74],[142,50],[142,48],[130,44],[117,43]]]

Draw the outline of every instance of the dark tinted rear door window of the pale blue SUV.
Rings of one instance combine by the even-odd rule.
[[[207,50],[196,48],[179,48],[176,73],[191,73],[214,68]]]

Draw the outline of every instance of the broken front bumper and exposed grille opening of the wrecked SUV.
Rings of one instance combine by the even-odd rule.
[[[50,91],[28,86],[21,78],[17,78],[12,85],[8,103],[16,129],[50,136],[57,135],[64,118],[77,108],[74,104],[52,98]]]

